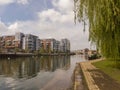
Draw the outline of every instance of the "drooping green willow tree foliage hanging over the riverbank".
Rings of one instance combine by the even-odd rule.
[[[120,58],[120,0],[74,0],[75,20],[89,20],[89,38],[106,58]]]

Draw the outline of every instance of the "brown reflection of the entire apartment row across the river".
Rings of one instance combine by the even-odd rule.
[[[70,56],[45,56],[17,59],[1,59],[0,75],[13,78],[31,78],[39,72],[54,72],[70,68]]]

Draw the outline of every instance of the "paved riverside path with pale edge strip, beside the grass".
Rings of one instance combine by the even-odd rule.
[[[120,90],[120,84],[91,64],[96,61],[80,63],[89,90]]]

